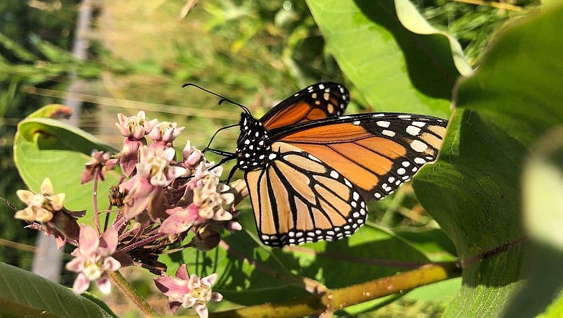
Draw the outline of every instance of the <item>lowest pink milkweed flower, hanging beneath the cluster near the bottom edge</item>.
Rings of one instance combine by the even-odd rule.
[[[199,317],[207,318],[207,304],[210,301],[218,302],[223,299],[220,293],[211,290],[217,280],[217,274],[200,279],[196,274],[189,276],[186,265],[182,264],[176,271],[176,278],[160,276],[154,279],[159,291],[167,295],[168,310],[175,313],[180,306],[194,307]]]

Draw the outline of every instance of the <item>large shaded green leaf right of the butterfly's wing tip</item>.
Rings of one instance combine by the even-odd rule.
[[[533,141],[563,123],[563,60],[554,53],[563,51],[562,27],[559,6],[496,38],[459,84],[440,157],[415,177],[419,201],[464,261],[446,316],[498,316],[521,278],[520,172]]]

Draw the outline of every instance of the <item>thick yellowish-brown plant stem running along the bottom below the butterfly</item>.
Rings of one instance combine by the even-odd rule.
[[[457,262],[424,265],[409,272],[375,279],[344,288],[327,290],[321,295],[243,307],[215,312],[213,317],[301,317],[340,310],[343,307],[364,303],[393,293],[459,277],[462,274]]]

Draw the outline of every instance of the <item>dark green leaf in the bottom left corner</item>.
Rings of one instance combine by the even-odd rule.
[[[1,317],[15,312],[26,317],[43,317],[44,312],[60,317],[117,317],[108,307],[69,288],[4,263],[0,263],[0,286]]]

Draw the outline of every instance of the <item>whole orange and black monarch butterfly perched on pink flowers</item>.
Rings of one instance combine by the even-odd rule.
[[[265,245],[350,236],[365,223],[365,200],[383,198],[436,159],[446,120],[405,113],[342,115],[349,97],[341,84],[318,83],[260,119],[239,103],[220,101],[243,110],[236,150],[205,149],[223,155],[221,163],[236,159],[229,179],[236,168],[244,172]]]

